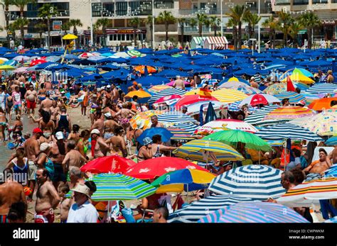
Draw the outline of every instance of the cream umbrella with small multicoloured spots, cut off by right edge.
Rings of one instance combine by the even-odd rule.
[[[336,135],[337,134],[337,113],[336,111],[323,111],[315,116],[306,118],[303,121],[297,121],[295,125],[299,125],[303,128],[311,130],[311,132],[317,135]]]

